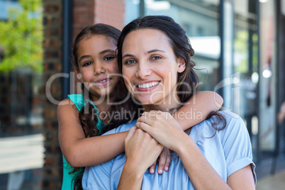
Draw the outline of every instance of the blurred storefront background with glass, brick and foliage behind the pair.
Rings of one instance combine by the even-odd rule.
[[[284,0],[0,0],[0,189],[60,189],[56,109],[77,91],[74,37],[146,15],[186,30],[200,90],[217,91],[245,121],[257,180],[268,185],[283,172],[285,186]]]

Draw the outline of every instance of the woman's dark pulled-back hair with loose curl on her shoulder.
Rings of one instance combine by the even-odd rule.
[[[199,87],[199,78],[194,72],[195,63],[191,61],[191,57],[194,55],[194,50],[190,44],[189,38],[186,32],[178,23],[176,23],[169,16],[145,16],[143,18],[137,18],[132,22],[128,23],[123,28],[120,37],[118,38],[118,68],[119,72],[122,73],[123,62],[122,62],[122,47],[125,37],[135,30],[140,29],[155,29],[162,31],[169,38],[169,44],[172,46],[174,55],[177,58],[181,58],[185,61],[184,72],[178,73],[177,77],[177,96],[179,96],[180,102],[186,103],[189,101],[191,96],[196,93]],[[218,120],[216,123],[212,123],[213,128],[216,130],[222,130],[225,128],[225,118],[222,114],[212,111],[208,117],[217,116]],[[222,124],[222,127],[218,128],[218,124]]]

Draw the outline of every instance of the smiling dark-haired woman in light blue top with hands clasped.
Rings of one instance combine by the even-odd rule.
[[[147,113],[108,131],[138,128],[128,133],[125,154],[86,167],[84,189],[255,189],[250,138],[240,118],[213,113],[184,133],[167,113],[193,96],[199,82],[193,55],[184,30],[167,16],[138,18],[123,28],[118,66]],[[169,172],[150,175],[147,167],[163,146],[174,151]]]

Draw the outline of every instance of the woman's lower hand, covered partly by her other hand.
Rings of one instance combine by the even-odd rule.
[[[157,160],[163,146],[139,128],[130,128],[125,138],[125,157],[137,172],[145,173]]]

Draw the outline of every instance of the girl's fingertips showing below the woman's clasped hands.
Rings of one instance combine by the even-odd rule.
[[[162,149],[162,152],[160,153],[157,173],[158,174],[162,174],[163,170],[165,172],[167,172],[168,169],[169,169],[170,161],[171,161],[170,151],[169,151],[169,149],[167,147],[164,147]],[[157,160],[155,160],[155,163],[153,163],[152,166],[150,167],[150,174],[154,174],[155,173],[155,165],[156,164],[157,164]]]

